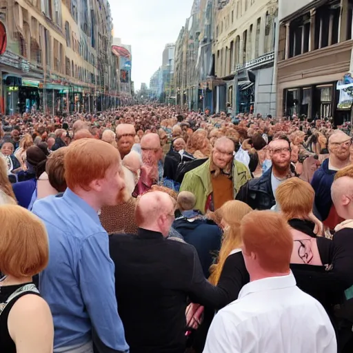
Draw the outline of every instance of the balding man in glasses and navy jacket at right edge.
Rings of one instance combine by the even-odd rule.
[[[315,190],[315,205],[321,220],[331,230],[342,221],[338,216],[331,199],[331,186],[334,175],[346,165],[350,164],[350,146],[352,138],[341,130],[331,135],[328,141],[330,157],[323,161],[312,178],[312,188]]]

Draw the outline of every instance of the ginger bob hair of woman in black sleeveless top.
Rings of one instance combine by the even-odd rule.
[[[41,220],[21,206],[1,205],[0,223],[0,271],[21,279],[44,270],[49,245]]]

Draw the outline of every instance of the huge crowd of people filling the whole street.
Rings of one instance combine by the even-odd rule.
[[[0,352],[353,352],[349,128],[2,117]]]

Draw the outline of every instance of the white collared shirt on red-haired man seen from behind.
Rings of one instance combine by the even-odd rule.
[[[244,285],[212,321],[203,353],[336,353],[323,306],[293,274]]]

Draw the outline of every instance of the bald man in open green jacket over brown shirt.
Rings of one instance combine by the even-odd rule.
[[[197,210],[215,211],[234,200],[239,189],[251,179],[249,169],[234,160],[234,142],[221,137],[214,143],[211,158],[185,174],[180,191],[196,196]]]

